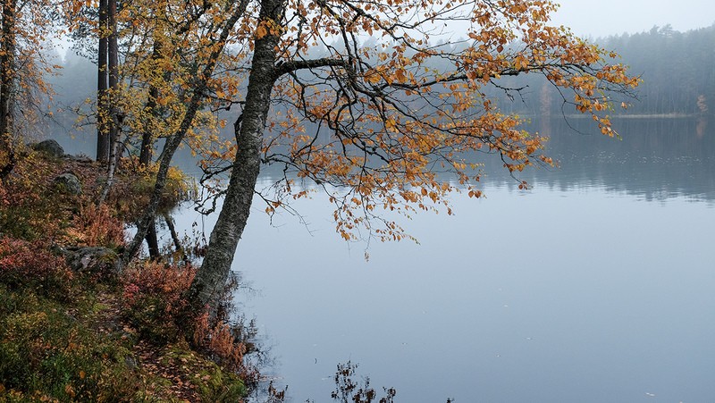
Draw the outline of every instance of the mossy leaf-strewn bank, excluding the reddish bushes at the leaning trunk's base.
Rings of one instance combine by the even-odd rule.
[[[122,303],[122,281],[72,273],[52,251],[58,245],[122,248],[123,226],[151,189],[150,170],[133,177],[130,171],[121,173],[101,212],[93,198],[102,169],[88,161],[25,155],[0,183],[0,401],[214,402],[246,396],[238,374],[192,350],[181,335],[157,341],[136,329]],[[80,178],[82,195],[53,186],[62,172]],[[173,176],[164,206],[189,190],[178,172]]]

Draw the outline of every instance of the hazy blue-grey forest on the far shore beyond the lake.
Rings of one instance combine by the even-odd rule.
[[[637,34],[597,38],[593,42],[621,55],[614,63],[625,63],[643,83],[638,100],[624,99],[631,106],[613,114],[657,114],[702,116],[715,111],[715,24],[708,28],[679,32],[669,25],[653,27]],[[76,109],[82,101],[96,96],[97,67],[87,58],[69,51],[60,74],[51,78],[55,86],[55,104]],[[537,75],[502,79],[505,88],[523,88],[505,92],[490,88],[489,95],[499,99],[507,113],[524,116],[573,114],[564,105],[555,88]],[[569,99],[567,99],[569,100]],[[81,107],[80,107],[81,109]],[[66,129],[76,120],[74,113],[55,114]]]

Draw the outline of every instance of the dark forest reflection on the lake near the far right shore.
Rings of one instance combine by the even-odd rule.
[[[704,118],[621,119],[615,125],[622,139],[588,134],[593,125],[585,120],[570,124],[582,133],[569,129],[564,120],[551,120],[545,126],[534,122],[534,127],[551,133],[549,154],[560,167],[525,172],[527,181],[562,190],[598,187],[647,200],[715,199],[715,136]],[[500,172],[492,179],[503,180]]]

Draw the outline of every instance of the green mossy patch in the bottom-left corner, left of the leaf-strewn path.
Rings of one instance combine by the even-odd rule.
[[[0,285],[0,301],[0,390],[6,390],[0,400],[11,399],[7,390],[21,391],[23,399],[38,391],[59,401],[114,401],[134,393],[139,378],[121,342],[101,337],[68,306],[31,291]]]

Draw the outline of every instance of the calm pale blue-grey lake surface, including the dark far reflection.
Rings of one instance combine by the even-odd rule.
[[[420,245],[347,244],[319,197],[307,228],[257,203],[234,269],[291,401],[330,401],[348,360],[400,402],[715,401],[715,122],[618,124],[535,123],[561,168],[490,175],[405,222]]]

